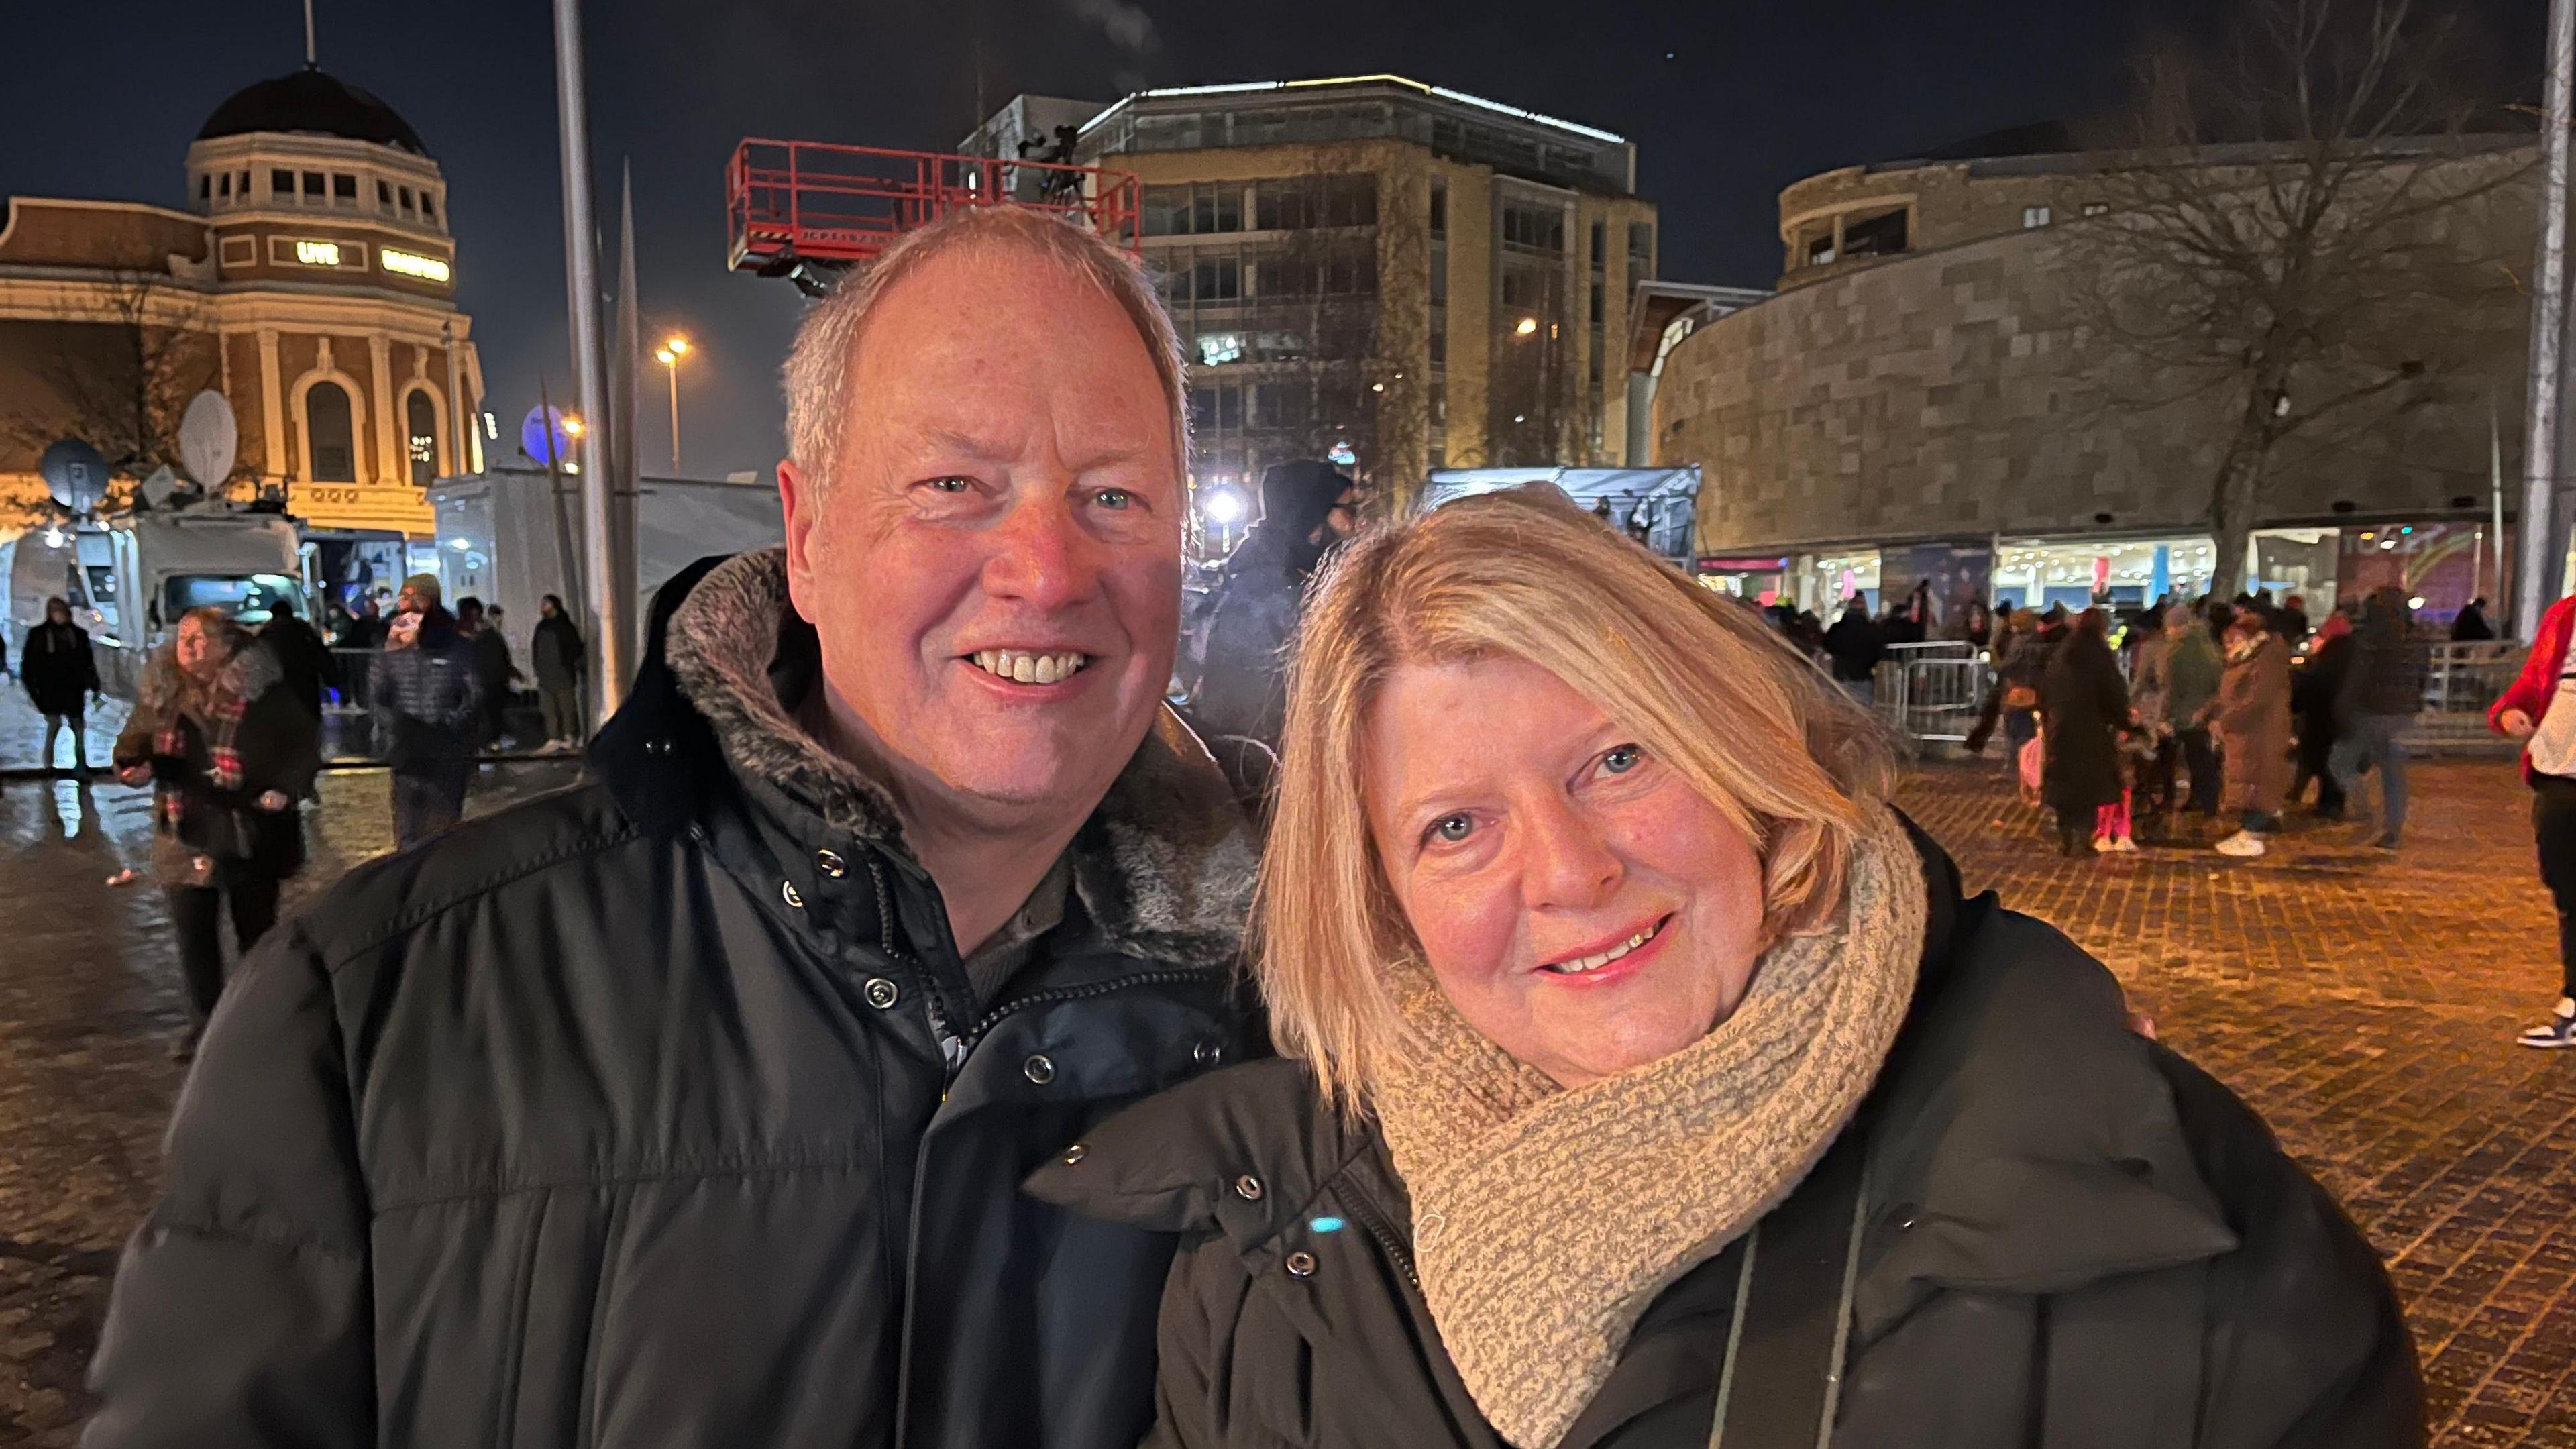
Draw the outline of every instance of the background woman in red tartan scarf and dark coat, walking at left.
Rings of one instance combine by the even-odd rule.
[[[170,890],[188,982],[188,1057],[224,990],[216,913],[250,954],[278,918],[278,884],[304,869],[296,797],[312,794],[319,732],[276,655],[219,608],[193,608],[144,668],[116,737],[116,776],[152,781],[152,869]]]

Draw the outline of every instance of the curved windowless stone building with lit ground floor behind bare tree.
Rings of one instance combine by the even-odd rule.
[[[1654,459],[1705,477],[1703,575],[1819,611],[1919,578],[1953,608],[2205,588],[2228,402],[2115,397],[2123,361],[2069,307],[2110,196],[2102,157],[2056,129],[1785,188],[1780,291],[1680,340],[1654,397]],[[2532,217],[2519,180],[2434,224],[2527,266]],[[2506,593],[2491,415],[2512,492],[2527,304],[2504,302],[2460,312],[2421,379],[2275,451],[2249,578],[2318,608],[2403,583],[2437,616]]]

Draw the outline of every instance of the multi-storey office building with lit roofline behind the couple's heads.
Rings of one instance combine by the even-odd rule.
[[[1376,75],[1144,90],[1072,160],[1144,180],[1198,487],[1334,456],[1401,505],[1435,467],[1625,462],[1656,209],[1623,137]]]

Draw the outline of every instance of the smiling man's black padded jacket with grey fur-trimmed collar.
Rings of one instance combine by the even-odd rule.
[[[775,552],[737,565],[672,590],[711,593],[696,655],[742,694],[683,691],[657,619],[595,781],[353,871],[227,987],[88,1444],[1149,1428],[1172,1238],[1015,1189],[1236,1052],[1247,825],[1151,735],[1066,920],[976,1003],[884,799],[755,694],[817,650]]]

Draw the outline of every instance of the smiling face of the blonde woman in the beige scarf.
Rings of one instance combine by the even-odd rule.
[[[1577,1088],[1680,1052],[1744,1000],[1752,841],[1553,673],[1399,665],[1365,730],[1388,887],[1489,1042]]]

